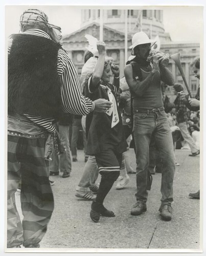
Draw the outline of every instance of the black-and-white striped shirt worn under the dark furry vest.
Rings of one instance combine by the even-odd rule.
[[[51,37],[42,30],[31,29],[27,30],[23,34],[43,36],[51,39]],[[8,54],[10,53],[12,45],[12,39],[8,41]],[[61,79],[61,99],[63,105],[63,111],[65,113],[87,115],[95,109],[95,103],[89,98],[84,97],[81,94],[79,78],[77,71],[74,67],[72,60],[68,57],[66,51],[59,49],[57,72]],[[49,132],[54,132],[53,118],[47,118],[42,116],[31,116],[25,114],[31,121],[44,127]]]

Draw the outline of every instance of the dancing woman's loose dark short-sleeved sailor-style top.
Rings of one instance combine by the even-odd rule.
[[[99,83],[97,88],[93,92],[89,90],[89,86],[91,86],[91,77],[85,82],[84,95],[86,97],[90,98],[93,101],[99,98],[109,100],[107,94],[109,88],[110,92],[115,96],[117,103],[117,88],[113,86],[113,84],[107,83],[103,85]],[[112,115],[113,113],[111,114],[111,116],[107,115],[106,113],[93,113],[93,118],[89,126],[87,139],[86,153],[88,155],[96,155],[101,153],[101,151],[104,150],[108,143],[113,146],[113,150],[117,153],[123,153],[126,151],[127,143],[123,132],[121,113],[119,109],[119,123],[116,124],[113,128],[111,128]]]

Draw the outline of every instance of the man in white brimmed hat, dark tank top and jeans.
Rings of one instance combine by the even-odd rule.
[[[149,145],[152,135],[162,156],[161,206],[159,211],[164,220],[172,218],[173,179],[175,157],[172,134],[164,111],[161,80],[168,86],[174,85],[172,73],[166,68],[168,57],[162,53],[147,59],[154,40],[146,33],[138,32],[132,37],[132,55],[124,73],[128,83],[133,108],[133,133],[136,148],[136,203],[131,215],[138,216],[147,210],[147,170]],[[164,61],[166,60],[166,61]]]

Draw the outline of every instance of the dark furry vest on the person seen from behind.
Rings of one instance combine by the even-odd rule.
[[[61,113],[59,44],[27,34],[12,36],[8,55],[8,113],[54,117]]]

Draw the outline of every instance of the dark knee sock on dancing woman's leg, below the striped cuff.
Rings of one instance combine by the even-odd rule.
[[[109,173],[102,172],[102,178],[100,181],[100,186],[99,186],[97,197],[95,200],[98,204],[103,204],[103,201],[106,195],[109,193],[109,190],[111,189],[113,183],[117,180],[119,175],[120,175],[120,172],[117,172],[117,171],[109,172]]]

